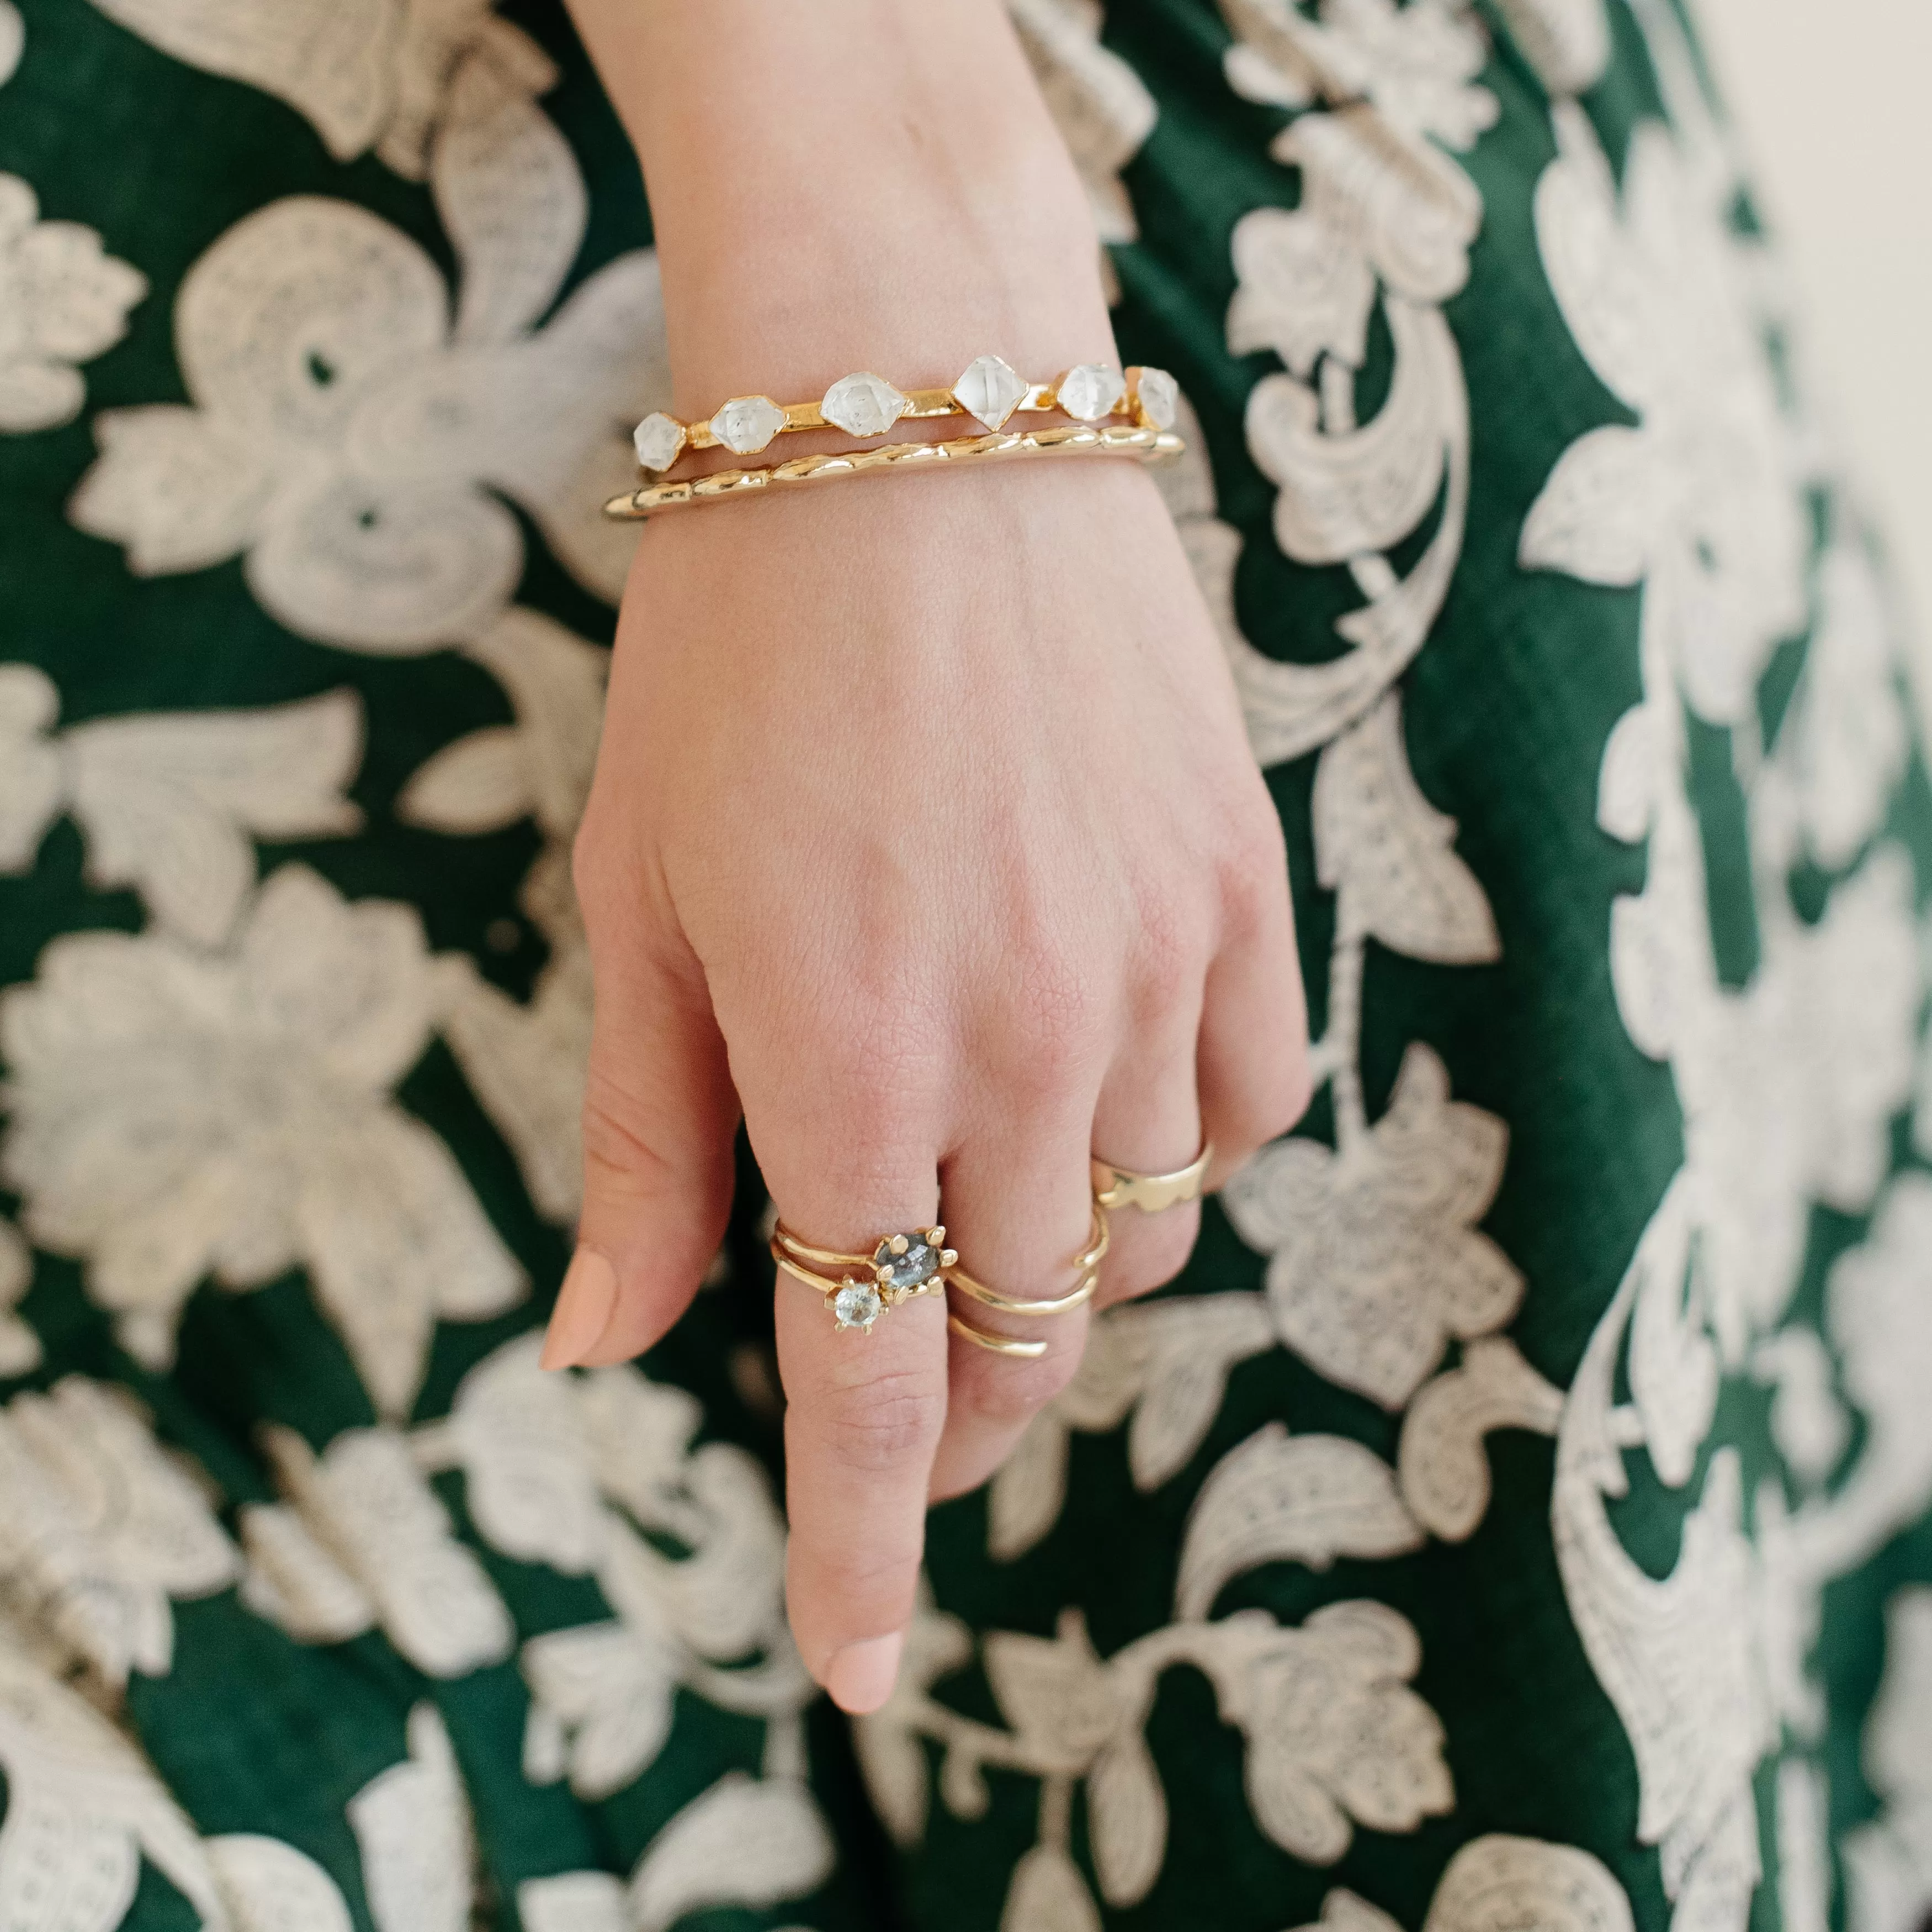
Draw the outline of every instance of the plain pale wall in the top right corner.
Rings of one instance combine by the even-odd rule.
[[[1692,0],[1891,551],[1932,721],[1932,0]]]

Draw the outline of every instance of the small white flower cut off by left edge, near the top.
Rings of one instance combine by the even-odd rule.
[[[0,435],[71,423],[87,396],[75,365],[120,342],[147,294],[93,228],[39,216],[33,189],[0,174]]]

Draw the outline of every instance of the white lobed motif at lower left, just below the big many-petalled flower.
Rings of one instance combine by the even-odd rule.
[[[305,1642],[381,1625],[431,1677],[510,1654],[510,1613],[400,1434],[346,1430],[321,1457],[294,1430],[270,1424],[263,1439],[288,1505],[242,1511],[253,1609]]]

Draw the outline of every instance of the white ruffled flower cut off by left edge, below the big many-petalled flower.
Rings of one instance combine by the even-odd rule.
[[[170,1598],[236,1578],[207,1495],[118,1389],[68,1376],[0,1408],[0,1604],[108,1692],[172,1667]]]

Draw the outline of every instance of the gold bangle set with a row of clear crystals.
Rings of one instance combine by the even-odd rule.
[[[684,423],[653,410],[632,433],[638,464],[663,475],[686,450],[726,448],[755,456],[773,437],[806,429],[842,429],[848,437],[883,437],[895,423],[931,415],[972,415],[985,429],[1005,429],[1014,413],[1059,410],[1097,423],[1122,408],[1144,429],[1173,429],[1180,390],[1165,369],[1080,363],[1051,383],[1028,383],[999,355],[978,355],[951,388],[895,388],[885,377],[858,371],[840,377],[817,402],[773,402],[732,396],[707,421]]]

